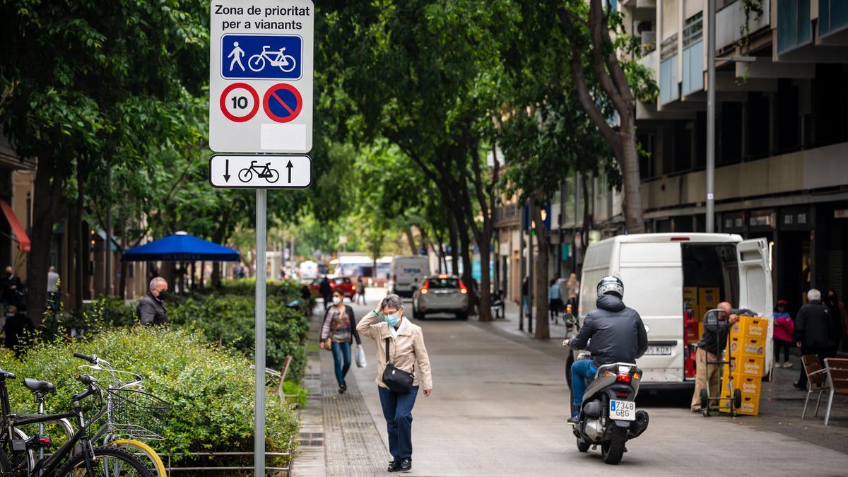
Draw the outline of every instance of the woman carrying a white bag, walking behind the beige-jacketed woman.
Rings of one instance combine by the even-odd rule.
[[[321,349],[332,351],[338,394],[348,390],[344,377],[350,369],[350,346],[354,340],[357,346],[362,345],[360,334],[354,328],[354,309],[345,305],[343,300],[342,290],[332,292],[332,306],[326,309],[321,325]]]

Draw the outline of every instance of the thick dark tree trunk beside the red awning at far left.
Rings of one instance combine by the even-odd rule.
[[[62,206],[64,177],[52,154],[38,154],[33,183],[31,249],[26,262],[26,313],[32,323],[42,324],[47,309],[47,268],[50,267],[50,242],[53,222]]]

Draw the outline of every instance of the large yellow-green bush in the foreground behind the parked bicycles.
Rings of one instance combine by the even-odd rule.
[[[47,401],[47,412],[70,410],[70,396],[84,387],[73,379],[85,364],[74,351],[98,356],[115,368],[139,373],[146,389],[172,404],[165,441],[151,442],[158,452],[250,451],[253,449],[254,373],[241,353],[209,344],[197,330],[117,328],[88,340],[57,340],[35,345],[22,361],[0,351],[0,367],[18,375],[7,381],[16,412],[34,412],[25,377],[47,379],[58,392]],[[97,377],[97,376],[96,376]],[[101,376],[107,379],[107,376]],[[267,407],[269,451],[292,452],[298,417],[292,405],[271,398]],[[91,409],[96,399],[86,400]],[[59,437],[53,435],[53,437]]]

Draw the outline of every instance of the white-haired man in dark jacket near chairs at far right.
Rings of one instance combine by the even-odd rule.
[[[801,348],[801,356],[816,355],[824,366],[824,358],[828,355],[833,342],[839,340],[838,332],[834,329],[830,310],[822,304],[822,292],[810,289],[806,292],[807,303],[801,306],[795,317],[795,345]],[[801,375],[795,387],[806,390],[806,372],[801,367]]]

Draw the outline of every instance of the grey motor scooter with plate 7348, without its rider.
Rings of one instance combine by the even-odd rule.
[[[577,319],[572,318],[575,326]],[[563,342],[566,345],[566,341]],[[580,353],[577,359],[592,359],[589,353]],[[600,445],[600,455],[605,463],[621,462],[628,452],[627,441],[642,435],[648,429],[648,412],[636,410],[636,395],[642,370],[632,362],[616,362],[598,368],[594,380],[583,394],[583,402],[573,425],[577,437],[577,450],[594,450]]]

